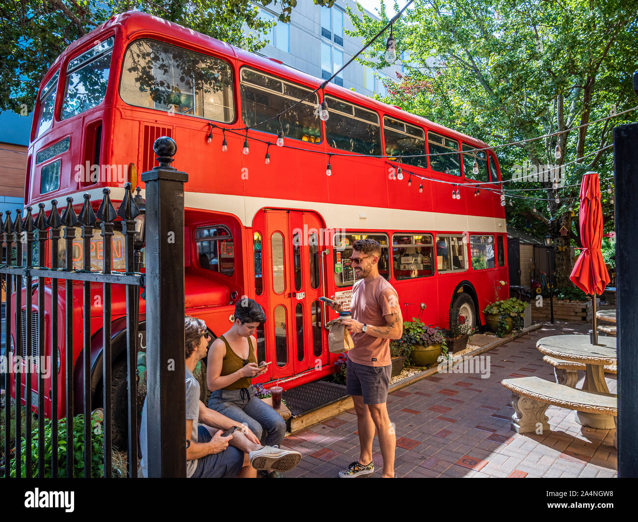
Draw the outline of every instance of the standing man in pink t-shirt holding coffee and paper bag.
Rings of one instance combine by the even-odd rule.
[[[355,241],[352,265],[359,279],[352,289],[352,319],[344,319],[355,347],[348,352],[346,392],[352,395],[359,424],[359,461],[339,472],[341,478],[375,471],[372,440],[376,431],[383,456],[383,477],[394,477],[396,436],[386,402],[390,384],[390,339],[403,335],[403,319],[396,290],[379,274],[381,245],[373,239]],[[341,305],[332,307],[341,311]]]

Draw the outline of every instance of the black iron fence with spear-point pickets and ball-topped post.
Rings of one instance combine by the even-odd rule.
[[[117,455],[126,453],[128,476],[137,477],[138,325],[145,280],[152,282],[145,313],[149,350],[142,354],[149,402],[154,402],[148,411],[149,451],[154,451],[149,474],[185,475],[185,424],[179,423],[184,401],[172,394],[181,389],[184,396],[184,331],[175,325],[184,317],[188,177],[170,166],[174,141],[158,138],[154,150],[159,167],[142,175],[145,202],[127,183],[117,210],[105,188],[97,212],[87,193],[79,214],[68,197],[61,215],[52,200],[40,203],[35,216],[31,207],[24,217],[20,210],[0,216],[5,315],[0,476],[112,477],[116,449]],[[114,286],[124,287],[124,293],[116,292],[125,294],[123,303],[113,301]],[[175,361],[171,372],[165,371],[167,359]],[[112,393],[114,367],[121,373],[115,382],[126,379],[124,396]]]

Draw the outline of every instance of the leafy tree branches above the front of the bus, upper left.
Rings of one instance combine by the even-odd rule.
[[[314,0],[332,6],[334,0]],[[255,51],[273,22],[256,4],[290,22],[297,0],[4,0],[0,5],[0,110],[33,110],[38,85],[71,42],[117,13],[138,10]],[[271,5],[272,4],[272,5]],[[250,33],[244,32],[244,24]]]

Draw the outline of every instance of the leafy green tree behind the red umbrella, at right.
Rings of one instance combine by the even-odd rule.
[[[353,34],[364,40],[389,21],[383,2],[381,20],[348,11]],[[638,111],[595,120],[638,105],[632,89],[637,31],[637,0],[417,0],[393,25],[397,55],[408,59],[406,72],[387,85],[388,103],[490,145],[549,135],[495,152],[503,180],[521,169],[563,169],[558,182],[566,188],[557,191],[551,176],[503,184],[512,196],[510,224],[557,237],[556,286],[569,284],[570,249],[563,247],[580,244],[574,217],[586,171],[600,174],[605,231],[613,229],[613,194],[606,190],[613,175],[612,128],[635,121]],[[384,52],[379,39],[360,61],[385,67]]]

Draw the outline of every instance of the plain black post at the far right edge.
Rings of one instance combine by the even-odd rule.
[[[638,476],[638,263],[635,226],[638,207],[638,123],[614,128],[616,189],[616,273],[618,308],[618,476]]]

